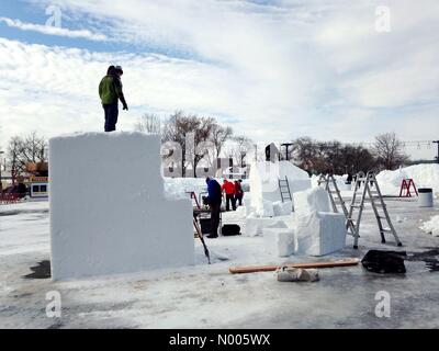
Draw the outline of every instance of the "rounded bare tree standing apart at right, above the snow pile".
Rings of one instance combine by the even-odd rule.
[[[373,146],[378,163],[384,169],[395,169],[408,161],[408,156],[403,150],[403,143],[395,133],[380,134],[375,137]]]

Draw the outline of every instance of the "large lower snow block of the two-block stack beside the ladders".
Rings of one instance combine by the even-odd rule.
[[[346,246],[346,218],[339,213],[296,216],[295,250],[300,254],[324,256]]]

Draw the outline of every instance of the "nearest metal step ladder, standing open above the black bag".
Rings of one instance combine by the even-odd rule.
[[[361,186],[362,190],[359,193],[358,191],[361,189]],[[360,195],[359,199],[357,197],[358,195]],[[364,204],[367,202],[370,202],[372,205],[372,210],[380,229],[381,242],[385,244],[385,233],[392,233],[397,246],[403,246],[389,216],[387,207],[384,203],[383,195],[381,194],[375,174],[374,172],[370,171],[367,174],[364,174],[364,172],[359,172],[356,177],[356,185],[347,218],[347,227],[353,225],[356,228],[353,233],[353,248],[358,249],[358,240],[360,238],[360,222],[364,210]],[[358,210],[358,213],[354,217],[356,210]],[[389,228],[384,228],[383,223],[386,223]]]

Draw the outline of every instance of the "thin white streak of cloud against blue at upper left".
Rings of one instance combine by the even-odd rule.
[[[108,37],[103,34],[95,34],[88,30],[72,31],[64,27],[42,25],[34,23],[25,23],[20,20],[12,20],[8,18],[0,18],[0,22],[5,23],[8,26],[19,29],[21,31],[38,32],[47,35],[66,36],[71,38],[86,38],[89,41],[104,42]]]

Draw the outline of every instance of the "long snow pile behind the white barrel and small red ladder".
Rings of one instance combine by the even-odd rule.
[[[439,165],[415,165],[395,171],[384,170],[376,176],[381,192],[386,195],[398,195],[404,179],[413,179],[416,188],[431,188],[439,192]]]

